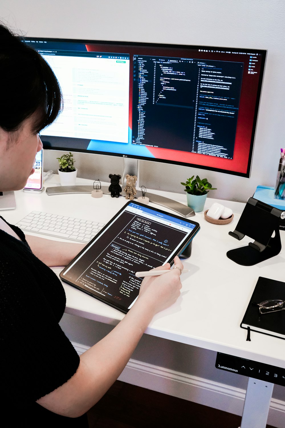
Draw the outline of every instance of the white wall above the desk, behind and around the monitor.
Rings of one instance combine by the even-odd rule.
[[[268,49],[250,179],[143,161],[141,184],[183,193],[180,181],[198,173],[217,187],[213,197],[242,202],[258,184],[274,185],[284,146],[283,0],[1,0],[0,17],[28,36]],[[55,158],[47,154],[46,168],[56,169]],[[76,158],[85,178],[104,180],[122,167],[120,158]]]

